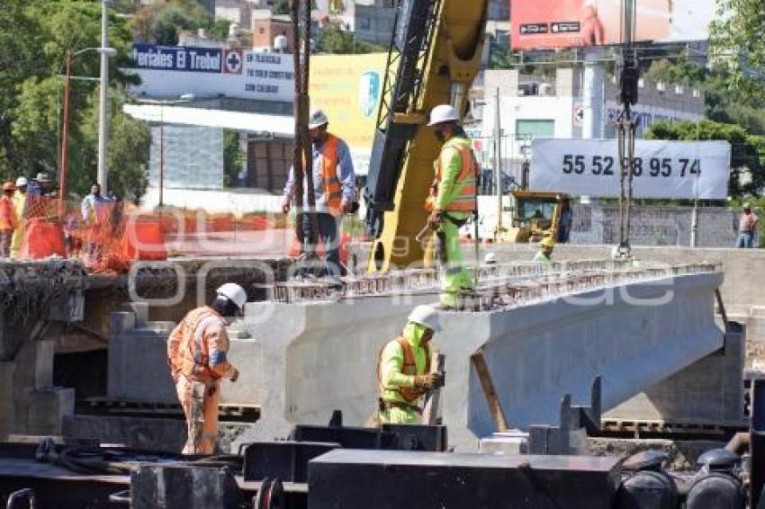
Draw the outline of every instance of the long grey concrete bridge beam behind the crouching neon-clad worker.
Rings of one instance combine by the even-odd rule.
[[[722,281],[713,272],[681,275],[587,291],[576,300],[444,313],[446,332],[435,343],[446,354],[450,442],[475,451],[478,438],[496,431],[471,368],[479,348],[510,424],[556,424],[563,395],[588,402],[597,375],[608,409],[718,350],[723,333],[715,325],[714,291]],[[262,420],[240,442],[284,437],[297,423],[326,424],[333,409],[347,424],[363,424],[376,404],[380,349],[399,333],[415,300],[248,304],[247,328],[261,353],[234,362],[243,372],[259,371]]]

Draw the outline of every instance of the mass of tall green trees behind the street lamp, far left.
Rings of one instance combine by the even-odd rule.
[[[124,18],[110,15],[109,44],[118,50],[110,59],[110,94],[135,78],[124,76],[130,54],[130,29]],[[78,0],[27,2],[4,0],[0,9],[0,176],[57,173],[64,74],[67,50],[73,53],[100,46],[101,5]],[[6,51],[7,49],[7,51]],[[86,51],[73,59],[73,76],[98,76],[99,56]],[[98,84],[72,80],[69,100],[67,190],[84,193],[94,181],[97,164]],[[116,192],[139,191],[130,158],[148,158],[136,134],[142,126],[121,115],[112,104],[110,153]],[[121,143],[129,144],[121,147]],[[129,147],[130,150],[128,149]],[[122,170],[124,169],[124,172]],[[145,185],[143,187],[145,189]]]

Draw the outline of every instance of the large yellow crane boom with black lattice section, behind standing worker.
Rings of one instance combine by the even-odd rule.
[[[442,103],[464,116],[481,68],[488,6],[489,0],[397,4],[364,193],[366,233],[374,238],[370,271],[423,260],[415,237],[428,218],[423,205],[440,149],[426,119]]]

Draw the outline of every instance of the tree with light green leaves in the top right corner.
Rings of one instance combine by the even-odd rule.
[[[762,0],[717,0],[717,13],[709,28],[710,53],[731,68],[726,85],[745,100],[761,98],[765,89]]]

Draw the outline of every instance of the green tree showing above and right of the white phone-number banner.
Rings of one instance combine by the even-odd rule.
[[[756,197],[765,187],[765,138],[752,135],[739,125],[716,121],[661,121],[651,125],[645,138],[728,141],[733,150],[729,195],[734,198]],[[740,177],[746,171],[752,174],[752,182],[742,184]]]

